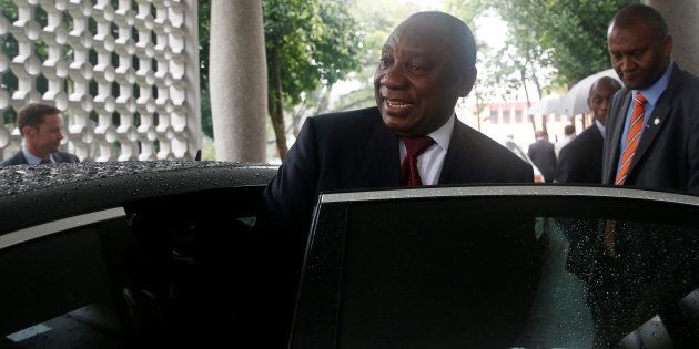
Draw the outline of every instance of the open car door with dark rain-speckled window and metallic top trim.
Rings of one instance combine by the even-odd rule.
[[[696,343],[696,198],[649,199],[654,193],[634,191],[614,197],[602,188],[516,192],[424,188],[325,197],[292,343]],[[606,243],[609,222],[617,232],[614,256]]]

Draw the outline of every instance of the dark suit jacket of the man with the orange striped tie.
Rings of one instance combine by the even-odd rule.
[[[631,91],[619,90],[607,115],[605,184],[614,184]],[[675,65],[645,126],[626,185],[699,193],[699,78]]]

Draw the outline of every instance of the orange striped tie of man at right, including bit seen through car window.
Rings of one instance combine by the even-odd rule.
[[[634,113],[631,113],[631,126],[629,126],[629,133],[624,142],[624,152],[621,153],[621,160],[619,161],[619,168],[617,170],[617,177],[614,181],[615,185],[624,185],[626,177],[629,175],[629,168],[631,167],[631,161],[634,161],[634,154],[638,148],[638,142],[640,141],[640,131],[644,127],[644,113],[646,112],[646,97],[636,93],[634,99]],[[607,253],[611,257],[616,257],[616,250],[614,245],[617,240],[617,222],[607,220],[604,230],[604,244]]]

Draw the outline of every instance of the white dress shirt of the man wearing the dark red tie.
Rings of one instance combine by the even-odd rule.
[[[449,142],[452,141],[455,117],[455,115],[452,115],[442,127],[428,134],[429,137],[435,140],[435,144],[430,145],[424,153],[417,156],[417,171],[419,172],[419,178],[423,181],[423,185],[435,185],[439,181],[444,157],[446,156]],[[403,141],[399,141],[399,151],[401,164],[403,164],[405,155],[407,154]]]

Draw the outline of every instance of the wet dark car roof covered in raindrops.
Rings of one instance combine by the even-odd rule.
[[[124,203],[265,185],[276,166],[227,162],[84,162],[0,167],[0,234]]]

